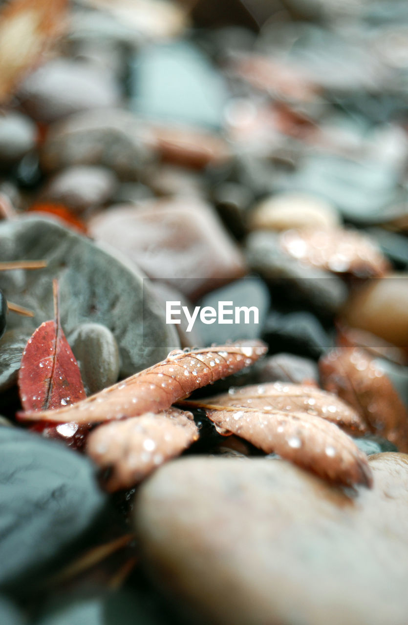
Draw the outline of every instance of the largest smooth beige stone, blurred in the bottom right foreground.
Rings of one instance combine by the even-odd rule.
[[[191,622],[405,625],[408,456],[369,463],[349,493],[277,458],[170,462],[136,499],[143,562]]]

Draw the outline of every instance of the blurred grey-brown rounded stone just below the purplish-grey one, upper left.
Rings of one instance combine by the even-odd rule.
[[[74,165],[100,165],[123,180],[137,180],[151,162],[150,134],[122,109],[95,109],[51,124],[41,149],[41,166],[50,173]]]

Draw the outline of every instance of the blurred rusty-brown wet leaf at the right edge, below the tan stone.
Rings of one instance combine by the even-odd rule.
[[[327,391],[353,406],[370,431],[408,451],[408,415],[389,377],[357,347],[334,349],[319,362]]]

